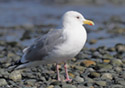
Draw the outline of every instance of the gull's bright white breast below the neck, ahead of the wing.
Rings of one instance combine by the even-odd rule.
[[[74,30],[64,31],[64,35],[66,35],[67,40],[58,47],[58,54],[72,58],[83,48],[87,38],[86,31],[83,26],[80,26],[79,28],[74,28]]]

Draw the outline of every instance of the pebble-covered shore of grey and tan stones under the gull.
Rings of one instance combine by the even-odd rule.
[[[56,80],[55,64],[9,71],[8,66],[20,59],[23,47],[17,42],[0,41],[0,88],[125,88],[125,44],[114,47],[85,48],[68,61],[73,80]]]

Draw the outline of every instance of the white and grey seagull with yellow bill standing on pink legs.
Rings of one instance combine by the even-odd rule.
[[[94,25],[77,11],[67,11],[62,17],[62,28],[55,29],[39,37],[34,43],[23,50],[22,58],[15,62],[14,68],[38,66],[56,63],[57,80],[61,81],[59,63],[64,62],[65,81],[69,78],[66,61],[74,58],[83,48],[87,33],[84,24]]]

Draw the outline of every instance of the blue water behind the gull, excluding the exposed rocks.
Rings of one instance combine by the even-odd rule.
[[[108,21],[112,16],[120,17],[121,20],[125,19],[125,6],[82,6],[82,5],[45,5],[39,2],[6,2],[0,3],[0,27],[12,27],[12,26],[32,26],[36,24],[52,24],[59,25],[60,17],[64,12],[68,10],[76,10],[81,12],[85,18],[92,19],[95,22],[95,26],[86,26],[91,31],[88,34],[88,41],[91,39],[98,39],[104,37],[103,40],[98,40],[96,44],[89,45],[87,47],[98,47],[98,46],[114,46],[117,43],[125,44],[125,36],[118,35],[111,37],[112,34],[107,33],[107,29],[103,24],[104,21]],[[124,25],[122,25],[125,28]],[[103,31],[94,32],[99,27],[104,28]],[[2,31],[3,32],[3,31]],[[7,41],[17,41],[23,34],[23,30],[13,31],[0,39]],[[32,39],[23,41],[23,45],[33,42]]]

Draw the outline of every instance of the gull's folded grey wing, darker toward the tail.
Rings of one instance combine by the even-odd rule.
[[[48,34],[38,38],[33,45],[31,45],[25,54],[26,61],[42,60],[60,43],[63,43],[65,39],[62,36],[63,30],[53,30]]]

